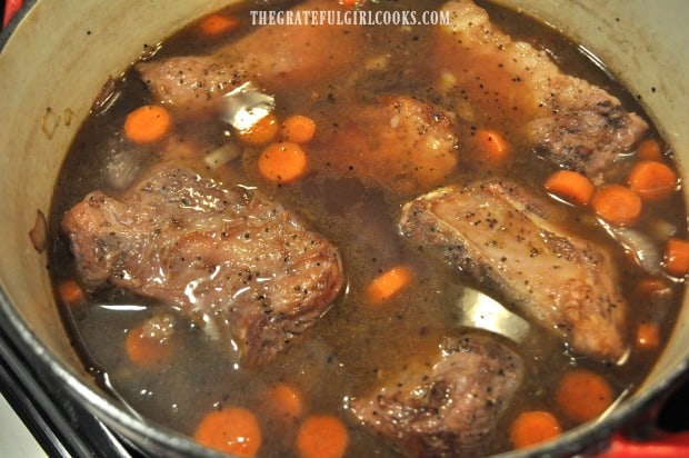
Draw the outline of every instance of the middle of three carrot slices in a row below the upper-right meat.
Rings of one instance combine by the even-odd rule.
[[[596,191],[591,207],[603,221],[617,226],[631,226],[641,216],[641,198],[621,185],[606,185]]]

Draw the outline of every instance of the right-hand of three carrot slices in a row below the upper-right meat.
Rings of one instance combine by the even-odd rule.
[[[638,162],[627,177],[629,188],[641,199],[658,201],[667,199],[677,190],[677,173],[662,162],[645,160]]]

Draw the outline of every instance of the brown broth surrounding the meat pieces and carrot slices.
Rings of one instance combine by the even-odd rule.
[[[246,8],[256,9],[257,4],[251,3]],[[264,8],[262,2],[260,4]],[[437,8],[441,2],[381,2],[372,8],[402,8],[403,4],[428,10]],[[490,3],[481,2],[480,6],[488,9],[493,23],[513,38],[547,49],[566,72],[605,88],[621,99],[628,110],[642,113],[633,97],[619,87],[605,69],[583,56],[575,43],[528,17]],[[247,10],[242,7],[232,7],[228,11],[248,19]],[[250,26],[243,26],[227,39],[237,39],[250,32]],[[411,33],[400,38],[395,27],[366,28],[367,56],[389,52],[392,56],[389,71],[376,74],[372,80],[359,82],[351,90],[341,89],[347,86],[349,74],[309,90],[291,91],[286,88],[276,93],[277,116],[284,118],[290,113],[307,112],[316,120],[319,129],[327,129],[333,119],[355,119],[357,112],[349,104],[377,93],[408,93],[430,101],[440,99],[430,87],[428,72],[413,68],[415,59],[410,59],[410,56],[428,54],[425,52],[428,47],[425,38],[429,28],[421,26],[412,29]],[[199,41],[194,33],[193,24],[176,33],[163,42],[153,58],[203,53],[220,46],[217,42]],[[407,40],[410,36],[415,38]],[[425,67],[432,69],[435,62],[427,61]],[[314,99],[313,92],[322,97]],[[140,168],[158,160],[156,155],[140,151],[122,139],[124,116],[148,101],[148,92],[131,70],[114,81],[112,94],[116,96],[111,98],[113,101],[107,108],[96,110],[81,127],[56,186],[50,218],[54,240],[50,263],[56,285],[76,278],[69,247],[57,229],[66,210],[94,189],[117,193],[118,189],[107,180],[108,168],[122,158],[126,163],[132,157],[136,158],[133,163]],[[227,127],[220,122],[189,119],[184,125],[176,126],[176,129],[184,140],[204,145],[207,150],[232,141],[224,133]],[[650,135],[657,138],[657,132]],[[327,146],[314,140],[311,150],[314,157],[318,157],[319,148],[324,149]],[[521,159],[505,170],[506,177],[548,198],[540,183],[552,171],[552,167],[530,155],[526,141],[515,148],[522,152]],[[670,153],[669,148],[666,150]],[[257,412],[263,430],[260,456],[290,456],[293,454],[297,421],[284,427],[271,420],[268,414],[270,408],[266,406],[263,396],[271,384],[286,381],[304,394],[307,411],[330,412],[347,424],[350,434],[348,456],[397,457],[399,455],[392,448],[358,426],[348,415],[347,399],[371,389],[407,361],[423,360],[437,348],[442,333],[456,322],[452,307],[448,305],[453,302],[463,280],[400,241],[396,219],[399,206],[409,200],[409,196],[362,186],[355,173],[342,176],[330,171],[328,162],[313,166],[314,171],[297,183],[268,185],[256,171],[256,157],[257,150],[247,148],[242,160],[209,171],[209,175],[227,182],[233,182],[236,177],[240,177],[243,185],[258,186],[339,247],[346,267],[348,292],[338,299],[328,313],[272,362],[260,370],[249,370],[238,366],[233,354],[212,341],[202,329],[172,308],[118,289],[104,289],[90,296],[84,305],[63,307],[66,326],[73,337],[74,346],[94,376],[133,410],[183,434],[192,435],[200,418],[213,408],[246,406]],[[204,166],[201,163],[201,167]],[[459,167],[450,181],[466,183],[490,173],[472,167]],[[570,213],[570,221],[577,232],[611,247],[616,253],[623,273],[622,289],[630,305],[630,326],[653,320],[661,326],[661,336],[669,336],[679,308],[681,286],[672,286],[677,300],[671,309],[656,310],[648,303],[638,303],[631,291],[645,273],[596,225],[587,209],[571,208]],[[686,233],[685,207],[679,193],[670,201],[658,203],[645,212],[645,218],[639,223],[641,229],[648,229],[656,219],[661,218],[679,228],[680,236]],[[370,279],[387,267],[402,261],[417,272],[408,292],[380,308],[362,303],[361,291]],[[163,368],[138,368],[128,361],[124,351],[127,332],[161,310],[174,319],[173,359]],[[629,333],[633,332],[632,327]],[[588,367],[603,374],[616,395],[625,396],[643,380],[661,349],[662,346],[650,351],[632,351],[625,365],[607,367],[575,356],[563,349],[559,339],[532,327],[527,341],[519,346],[528,365],[526,384],[502,417],[498,430],[507,430],[511,419],[522,409],[557,412],[558,407],[552,399],[553,386],[560,374],[572,366]],[[562,420],[562,426],[569,429],[576,425]],[[491,447],[485,452],[510,449],[506,436],[492,440]]]

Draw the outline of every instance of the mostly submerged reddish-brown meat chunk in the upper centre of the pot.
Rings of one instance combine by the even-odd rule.
[[[313,143],[327,169],[412,196],[440,186],[457,166],[455,117],[430,103],[381,97],[337,114]]]

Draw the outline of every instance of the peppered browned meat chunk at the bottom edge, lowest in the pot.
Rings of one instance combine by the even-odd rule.
[[[490,437],[523,378],[521,358],[478,333],[446,338],[438,360],[407,367],[351,410],[415,457],[475,455]]]

